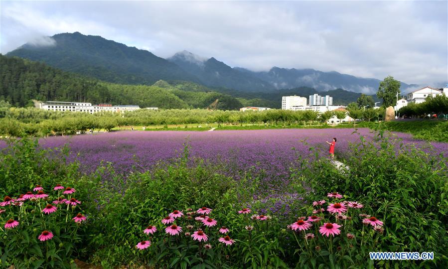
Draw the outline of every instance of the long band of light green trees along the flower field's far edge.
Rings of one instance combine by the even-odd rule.
[[[312,125],[326,123],[335,116],[344,119],[347,115],[353,119],[380,119],[381,110],[357,108],[349,111],[289,111],[267,110],[254,111],[211,111],[203,109],[171,109],[145,110],[141,109],[124,114],[119,113],[73,113],[53,112],[35,108],[11,108],[2,103],[0,107],[0,134],[19,135],[25,132],[33,135],[75,134],[88,130],[103,129],[110,131],[114,127],[122,126],[151,126],[151,125],[186,125],[186,124],[283,124],[283,125]],[[1,105],[1,104],[0,104]]]

